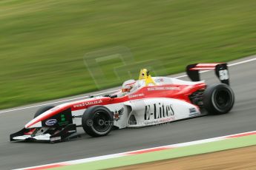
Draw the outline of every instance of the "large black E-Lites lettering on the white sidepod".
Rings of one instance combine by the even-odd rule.
[[[174,115],[172,105],[165,105],[163,103],[154,103],[145,106],[144,120],[152,120],[159,118],[166,118]]]

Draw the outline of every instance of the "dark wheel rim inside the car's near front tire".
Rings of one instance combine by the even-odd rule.
[[[111,127],[111,118],[105,112],[99,111],[93,116],[93,129],[96,132],[108,132]]]

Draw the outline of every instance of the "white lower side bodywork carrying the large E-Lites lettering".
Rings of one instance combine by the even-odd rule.
[[[114,112],[114,126],[125,127],[150,126],[159,123],[191,118],[200,115],[197,106],[173,98],[143,98],[124,103],[105,105]],[[85,109],[72,112],[79,116]],[[73,123],[81,125],[81,118],[73,118]]]

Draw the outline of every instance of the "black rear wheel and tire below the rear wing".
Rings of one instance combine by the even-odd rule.
[[[226,84],[208,86],[203,92],[203,106],[211,115],[228,113],[234,105],[234,92]]]

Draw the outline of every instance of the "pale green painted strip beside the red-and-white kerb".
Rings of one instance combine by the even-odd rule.
[[[62,166],[54,168],[56,170],[69,169],[111,169],[119,166],[129,166],[139,163],[148,163],[157,160],[168,160],[177,157],[186,157],[194,154],[206,154],[209,152],[218,152],[227,149],[236,149],[245,146],[254,146],[256,144],[256,135],[230,138],[210,143],[202,143],[192,146],[183,146],[180,148],[167,149],[159,152],[150,152],[145,154],[135,154],[125,157],[117,157],[107,160],[98,160],[89,163],[80,163],[73,166]]]

